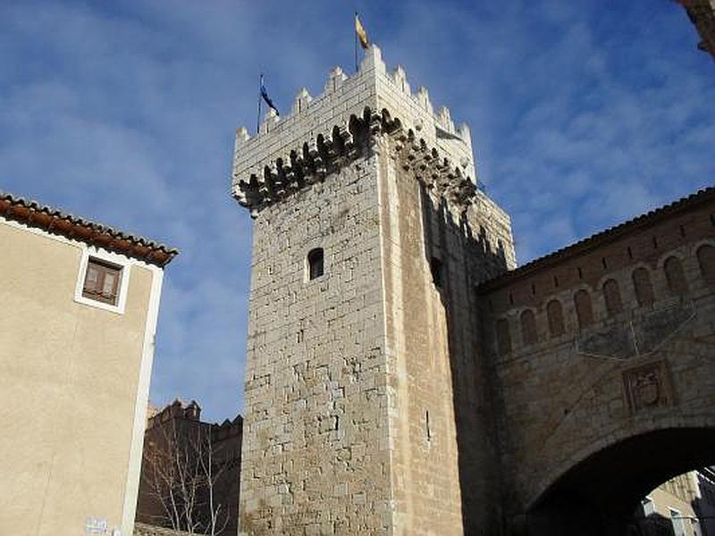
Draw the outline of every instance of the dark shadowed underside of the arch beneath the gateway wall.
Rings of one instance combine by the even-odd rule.
[[[587,456],[534,500],[528,536],[625,536],[638,501],[669,478],[715,463],[715,427],[648,431]]]

